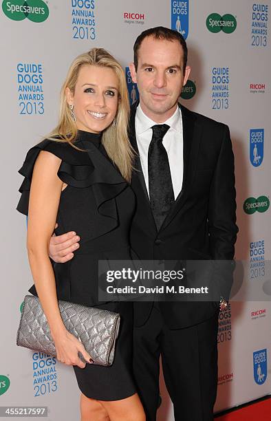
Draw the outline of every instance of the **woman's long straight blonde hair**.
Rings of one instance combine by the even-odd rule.
[[[110,67],[118,77],[119,102],[118,111],[115,117],[116,125],[113,127],[111,124],[102,132],[102,144],[104,145],[109,158],[118,166],[122,177],[127,181],[131,181],[134,151],[129,142],[127,132],[130,106],[126,80],[120,63],[103,48],[91,48],[89,52],[80,54],[80,56],[76,57],[72,62],[67,73],[67,78],[61,89],[58,125],[47,137],[56,140],[57,142],[68,142],[72,147],[75,147],[74,140],[76,140],[77,128],[67,102],[66,89],[68,87],[72,94],[74,94],[78,73],[80,67],[83,65]]]

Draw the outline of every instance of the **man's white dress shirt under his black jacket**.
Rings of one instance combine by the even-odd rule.
[[[183,132],[182,132],[182,113],[180,107],[177,107],[171,118],[163,123],[169,125],[170,129],[163,138],[163,145],[169,158],[169,168],[171,170],[171,180],[173,184],[174,197],[182,190],[183,177]],[[140,104],[135,113],[135,135],[138,142],[138,151],[140,153],[140,162],[142,171],[149,193],[149,175],[148,175],[148,151],[151,138],[153,136],[152,126],[157,125],[151,118],[147,117],[142,111]]]

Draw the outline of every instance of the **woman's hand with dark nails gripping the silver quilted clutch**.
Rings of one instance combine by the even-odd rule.
[[[93,363],[93,360],[85,350],[83,343],[78,341],[78,339],[67,330],[64,330],[56,337],[53,337],[53,339],[54,344],[56,345],[56,358],[58,361],[61,361],[61,363],[78,365],[80,368],[85,368],[86,364],[80,360],[78,352],[80,352],[90,364]]]

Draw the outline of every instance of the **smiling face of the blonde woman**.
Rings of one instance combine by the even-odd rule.
[[[74,95],[67,88],[68,104],[74,105],[78,130],[100,133],[118,110],[118,77],[110,67],[80,67]]]

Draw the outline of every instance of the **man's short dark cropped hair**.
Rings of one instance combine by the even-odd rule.
[[[143,31],[138,38],[135,40],[133,45],[133,63],[135,65],[135,71],[138,70],[138,50],[142,41],[147,38],[147,36],[153,36],[154,39],[165,39],[166,41],[179,41],[180,45],[182,45],[182,50],[184,52],[184,69],[186,69],[187,63],[187,45],[184,37],[175,30],[171,30],[169,28],[164,28],[164,26],[156,26],[155,28],[149,28],[148,30]]]

